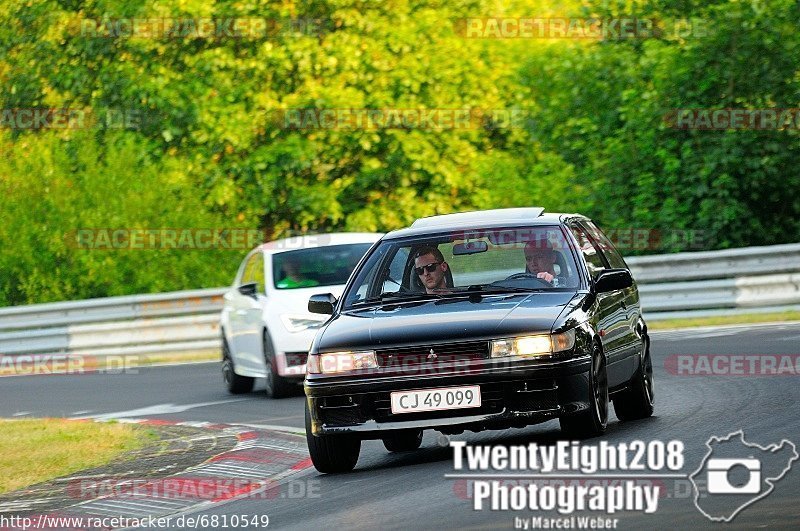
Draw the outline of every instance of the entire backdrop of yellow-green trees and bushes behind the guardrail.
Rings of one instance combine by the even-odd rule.
[[[2,109],[81,130],[0,131],[0,305],[223,285],[242,251],[74,249],[92,227],[386,231],[542,205],[713,247],[795,241],[798,131],[685,131],[670,109],[798,107],[798,7],[770,2],[0,4]],[[458,19],[696,17],[704,35],[466,39]],[[103,36],[126,17],[259,17],[267,36]],[[291,23],[294,21],[294,23]],[[472,128],[291,128],[291,109],[522,111]],[[658,252],[660,250],[656,250]]]

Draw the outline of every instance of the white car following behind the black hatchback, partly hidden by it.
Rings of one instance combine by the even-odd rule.
[[[316,329],[328,316],[308,311],[317,293],[341,295],[373,233],[316,234],[256,247],[225,293],[220,317],[222,377],[231,393],[265,378],[267,395],[289,395],[303,383]]]

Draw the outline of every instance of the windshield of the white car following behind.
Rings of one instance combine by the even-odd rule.
[[[276,289],[345,284],[371,243],[328,245],[272,255]]]

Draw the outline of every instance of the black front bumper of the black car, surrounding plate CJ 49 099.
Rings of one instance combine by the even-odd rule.
[[[400,429],[463,430],[523,427],[589,407],[591,356],[565,360],[484,360],[479,370],[436,374],[307,378],[314,435],[379,439]],[[479,408],[393,414],[392,391],[479,385]]]

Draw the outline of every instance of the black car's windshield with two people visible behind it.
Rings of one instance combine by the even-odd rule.
[[[344,305],[575,289],[580,277],[567,241],[558,226],[385,240],[358,272]]]

